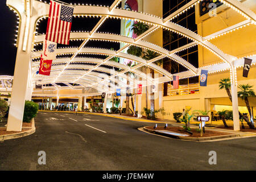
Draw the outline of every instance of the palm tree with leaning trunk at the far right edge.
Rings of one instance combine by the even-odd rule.
[[[254,123],[253,123],[253,114],[251,114],[251,108],[249,105],[249,100],[248,97],[255,97],[255,92],[253,89],[251,89],[253,86],[246,84],[246,85],[239,85],[238,88],[241,89],[240,92],[238,92],[238,97],[242,98],[242,100],[245,101],[247,110],[249,111],[250,114],[250,121],[251,121],[251,125],[254,127]]]

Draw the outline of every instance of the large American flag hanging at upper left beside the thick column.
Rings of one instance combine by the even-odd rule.
[[[59,44],[69,44],[73,10],[73,7],[51,1],[46,40]]]

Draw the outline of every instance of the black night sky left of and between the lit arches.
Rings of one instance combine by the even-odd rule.
[[[49,0],[47,0],[49,2]],[[63,2],[72,2],[74,3],[84,3],[84,4],[92,4],[92,5],[105,5],[110,6],[114,2],[114,0],[63,0]],[[119,5],[120,6],[120,5]],[[15,30],[16,30],[16,15],[13,11],[6,6],[6,0],[0,1],[0,17],[1,17],[1,26],[0,26],[0,36],[1,36],[1,43],[0,43],[0,54],[1,54],[1,65],[0,65],[0,75],[14,75],[14,66],[15,66],[15,59],[16,59],[16,47],[14,46],[15,43]],[[75,22],[79,21],[74,19]],[[92,22],[93,20],[85,20],[87,23]],[[73,24],[72,30],[86,30],[88,26],[81,26],[81,24],[86,25],[87,23],[76,23]],[[94,20],[97,23],[97,19]],[[105,31],[111,32],[115,34],[119,34],[120,32],[120,22],[109,21],[106,22],[108,24],[104,25],[98,31]],[[80,26],[79,26],[80,24]],[[114,24],[114,26],[113,26]],[[92,25],[91,25],[92,26]],[[119,27],[118,27],[119,26]],[[46,30],[39,30],[45,32]],[[96,43],[97,44],[97,43]],[[96,47],[93,43],[90,43],[90,47]],[[97,46],[98,47],[98,46]],[[115,49],[118,45],[113,44],[109,46],[114,47]]]

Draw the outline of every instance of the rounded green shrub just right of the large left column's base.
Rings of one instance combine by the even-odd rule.
[[[31,119],[36,117],[38,113],[39,106],[35,102],[25,101],[23,122],[30,123]]]

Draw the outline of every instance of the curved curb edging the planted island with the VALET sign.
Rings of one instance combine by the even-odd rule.
[[[220,135],[220,136],[214,136],[214,137],[184,137],[184,136],[176,136],[172,134],[165,134],[160,133],[155,130],[147,129],[146,126],[143,127],[144,131],[147,131],[148,133],[153,133],[156,135],[163,135],[164,137],[170,137],[175,139],[183,139],[183,140],[193,140],[193,141],[199,141],[199,140],[214,140],[214,139],[221,139],[221,138],[231,138],[231,137],[240,137],[240,134],[227,134],[227,135]]]

